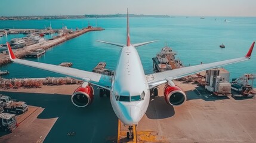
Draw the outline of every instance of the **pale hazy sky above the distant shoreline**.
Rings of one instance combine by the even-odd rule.
[[[0,16],[132,14],[256,16],[256,0],[0,0]]]

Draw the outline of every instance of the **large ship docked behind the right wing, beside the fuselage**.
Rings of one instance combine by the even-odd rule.
[[[175,58],[175,55],[177,55],[177,53],[172,51],[172,48],[166,44],[165,47],[161,49],[161,52],[156,54],[156,57],[152,58],[153,70],[157,73],[184,67],[182,62]]]

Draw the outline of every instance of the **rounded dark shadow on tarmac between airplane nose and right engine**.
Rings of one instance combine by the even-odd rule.
[[[174,116],[175,111],[172,105],[165,102],[164,97],[150,97],[149,107],[146,116],[149,119],[165,119]]]

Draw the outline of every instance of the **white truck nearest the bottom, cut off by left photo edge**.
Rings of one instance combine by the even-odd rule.
[[[1,113],[0,114],[0,129],[5,132],[13,132],[17,128],[17,120],[15,114]]]

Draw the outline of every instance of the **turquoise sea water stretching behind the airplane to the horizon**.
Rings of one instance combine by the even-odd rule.
[[[226,22],[224,21],[226,19]],[[44,29],[44,25],[60,29],[63,25],[68,29],[81,29],[87,26],[100,26],[105,30],[90,32],[71,39],[54,48],[37,59],[28,59],[42,63],[60,64],[64,61],[72,62],[73,68],[91,71],[99,61],[107,62],[107,69],[115,70],[120,48],[104,43],[103,40],[116,43],[125,43],[126,18],[88,18],[75,20],[6,20],[0,21],[0,29],[27,28]],[[242,57],[248,51],[253,41],[256,41],[255,17],[169,17],[169,18],[130,18],[130,35],[132,43],[159,40],[158,42],[139,47],[146,74],[153,72],[152,57],[168,46],[177,52],[177,58],[185,66],[227,60]],[[10,35],[0,38],[0,43],[10,41],[11,38],[23,35]],[[220,48],[224,43],[226,48]],[[249,61],[225,66],[230,71],[230,79],[242,76],[243,73],[256,73],[256,50],[252,52]],[[8,64],[0,67],[9,70],[11,77],[47,77],[60,76],[49,71],[32,69],[18,64]],[[256,81],[254,86],[256,85]]]

